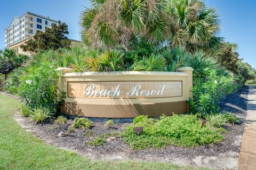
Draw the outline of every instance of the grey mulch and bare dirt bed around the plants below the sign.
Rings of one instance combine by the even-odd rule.
[[[221,101],[221,109],[231,111],[241,118],[246,117],[248,88],[245,86],[237,92],[226,96]],[[244,131],[244,125],[225,124],[228,133],[224,134],[225,141],[196,148],[180,148],[172,145],[164,149],[131,150],[121,137],[113,137],[101,146],[87,145],[87,141],[102,133],[121,132],[129,123],[117,123],[114,128],[106,129],[103,123],[94,123],[93,134],[86,136],[82,129],[74,132],[60,130],[52,122],[35,125],[29,118],[16,114],[15,120],[28,132],[38,136],[49,144],[78,152],[82,156],[102,160],[143,160],[161,161],[179,165],[211,167],[218,169],[237,169],[238,155]],[[72,120],[69,120],[69,125]],[[60,132],[67,136],[59,137]]]

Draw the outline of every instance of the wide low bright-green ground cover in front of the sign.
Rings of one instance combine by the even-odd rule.
[[[140,135],[133,134],[133,127],[137,126],[143,127]],[[121,137],[132,149],[162,148],[168,144],[195,147],[224,139],[217,129],[207,125],[201,127],[196,115],[162,116],[159,120],[139,116],[134,118],[133,125],[125,128]]]

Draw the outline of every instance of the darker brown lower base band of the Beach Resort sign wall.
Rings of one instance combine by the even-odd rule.
[[[134,118],[139,115],[158,117],[187,112],[187,101],[143,104],[82,104],[65,102],[61,112],[66,115],[99,118]]]

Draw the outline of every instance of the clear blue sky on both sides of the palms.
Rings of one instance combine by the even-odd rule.
[[[221,20],[220,36],[225,41],[238,44],[239,58],[256,68],[256,1],[251,0],[205,0],[207,6],[218,9]],[[61,20],[68,25],[70,39],[80,40],[79,14],[90,7],[87,0],[44,0],[0,2],[0,48],[4,48],[4,29],[10,25],[13,17],[19,17],[26,11]]]

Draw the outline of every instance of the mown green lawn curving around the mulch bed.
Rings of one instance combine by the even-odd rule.
[[[91,160],[48,145],[13,119],[17,100],[0,94],[0,169],[196,169],[142,161]],[[205,169],[205,168],[199,168]]]

